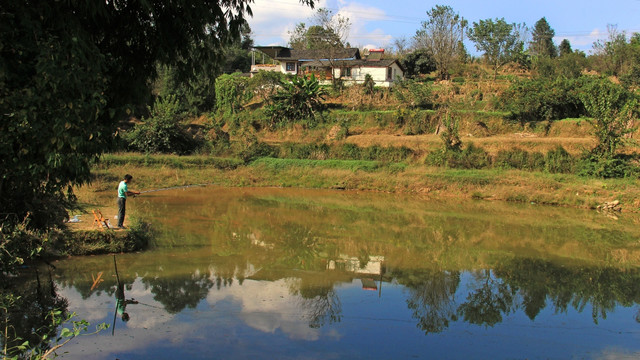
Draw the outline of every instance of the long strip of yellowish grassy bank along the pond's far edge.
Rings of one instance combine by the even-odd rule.
[[[515,201],[595,208],[619,200],[624,212],[640,211],[635,179],[594,179],[570,174],[521,170],[458,170],[410,162],[299,160],[260,158],[231,169],[189,165],[197,158],[161,156],[168,162],[141,161],[147,155],[110,155],[94,169],[95,180],[77,190],[80,200],[96,204],[97,193],[115,188],[123,174],[134,175],[135,188],[152,190],[190,184],[277,186],[415,193],[422,196]],[[204,157],[203,157],[204,158]],[[182,166],[182,161],[185,163]]]

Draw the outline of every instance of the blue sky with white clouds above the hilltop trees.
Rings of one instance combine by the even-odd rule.
[[[533,25],[543,16],[556,32],[555,42],[569,39],[574,49],[588,52],[594,41],[607,37],[607,25],[631,34],[640,32],[640,0],[321,0],[326,7],[349,17],[349,42],[357,47],[391,47],[394,39],[411,39],[426,12],[437,4],[449,5],[473,23],[480,19],[504,18],[507,22]],[[284,45],[288,31],[305,22],[313,10],[298,0],[255,0],[249,20],[256,45]],[[473,53],[475,49],[467,45]]]

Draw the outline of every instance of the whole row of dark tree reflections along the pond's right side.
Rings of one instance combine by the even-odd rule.
[[[479,270],[466,294],[457,294],[460,273],[394,270],[406,286],[407,305],[426,333],[441,332],[458,316],[465,322],[494,326],[517,309],[534,320],[552,305],[556,312],[593,309],[593,321],[617,306],[640,304],[640,271],[612,267],[562,266],[539,259],[507,260],[495,270]],[[459,298],[460,301],[456,301]],[[640,312],[637,316],[640,320]]]

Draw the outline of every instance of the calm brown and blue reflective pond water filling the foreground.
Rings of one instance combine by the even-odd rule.
[[[159,234],[115,258],[128,321],[113,256],[54,264],[68,310],[115,325],[65,359],[640,357],[633,217],[216,187],[128,206]]]

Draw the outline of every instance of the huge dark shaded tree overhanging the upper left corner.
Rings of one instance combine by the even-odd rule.
[[[187,78],[219,62],[249,3],[0,2],[2,212],[31,226],[60,224],[70,186],[90,179],[117,121],[146,100],[157,64]]]

